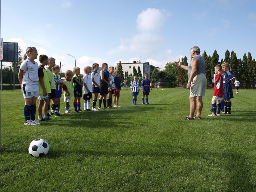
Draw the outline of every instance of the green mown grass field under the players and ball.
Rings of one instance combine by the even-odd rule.
[[[20,90],[1,92],[0,191],[256,191],[256,90],[239,90],[232,115],[201,120],[189,113],[186,89],[153,89],[150,105],[64,114],[25,126]],[[64,112],[64,103],[61,103]],[[35,138],[50,144],[44,158],[28,154]]]

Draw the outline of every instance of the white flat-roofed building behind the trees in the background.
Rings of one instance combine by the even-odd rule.
[[[118,64],[116,64],[116,69],[118,69]],[[136,61],[133,61],[133,63],[121,63],[122,64],[122,68],[123,68],[123,72],[125,73],[126,71],[128,71],[128,74],[130,76],[130,74],[133,75],[133,67],[136,68],[136,70],[138,71],[138,66],[140,66],[140,71],[141,71],[141,74],[142,74],[142,77],[144,77],[144,74],[147,73],[148,74],[148,79],[151,80],[151,74],[152,74],[152,71],[154,70],[154,68],[157,68],[158,70],[160,70],[159,67],[155,67],[153,65],[150,65],[149,62],[144,62],[144,63],[141,63],[141,62],[136,62]]]

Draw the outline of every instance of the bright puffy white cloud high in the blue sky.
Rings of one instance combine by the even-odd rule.
[[[143,10],[137,18],[137,28],[141,32],[158,32],[161,30],[170,12],[148,8]]]

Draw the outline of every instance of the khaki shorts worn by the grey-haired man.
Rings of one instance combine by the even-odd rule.
[[[206,92],[207,79],[204,73],[200,73],[194,77],[191,82],[189,97],[203,97]]]

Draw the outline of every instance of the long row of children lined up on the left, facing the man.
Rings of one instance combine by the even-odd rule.
[[[46,55],[40,55],[40,65],[34,61],[38,56],[35,47],[28,47],[24,55],[23,62],[20,65],[18,79],[22,87],[24,97],[24,117],[25,125],[40,125],[42,121],[50,120],[50,117],[58,117],[60,112],[60,98],[62,90],[65,102],[65,114],[70,114],[70,102],[74,97],[74,113],[81,112],[80,99],[83,96],[84,111],[91,111],[90,99],[93,97],[92,111],[103,108],[120,107],[118,105],[121,82],[118,77],[118,70],[109,67],[108,64],[102,64],[103,70],[98,73],[99,64],[92,65],[93,72],[90,75],[91,67],[84,66],[84,77],[80,76],[80,68],[74,67],[73,71],[65,72],[65,79],[62,82],[60,75],[60,66],[55,64],[55,59]],[[83,89],[82,89],[83,86]],[[84,92],[82,93],[82,90]],[[96,102],[99,97],[99,106],[96,108]],[[114,96],[114,106],[112,106],[112,95]],[[108,98],[107,98],[108,96]],[[36,120],[36,100],[38,102],[38,120]],[[50,102],[52,100],[51,108]],[[43,114],[42,114],[43,111]]]

